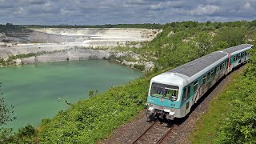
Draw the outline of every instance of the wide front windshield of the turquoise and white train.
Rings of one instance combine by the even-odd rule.
[[[153,97],[165,98],[176,101],[178,98],[178,86],[152,83],[150,95]]]

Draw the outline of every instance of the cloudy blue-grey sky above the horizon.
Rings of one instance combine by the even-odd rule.
[[[0,0],[0,23],[102,25],[256,19],[256,0]]]

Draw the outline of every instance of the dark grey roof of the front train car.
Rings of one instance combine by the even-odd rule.
[[[188,62],[182,66],[178,66],[173,70],[166,71],[166,73],[178,73],[191,77],[225,56],[225,53],[215,51],[214,53],[207,54],[201,58],[195,59],[194,61]]]

